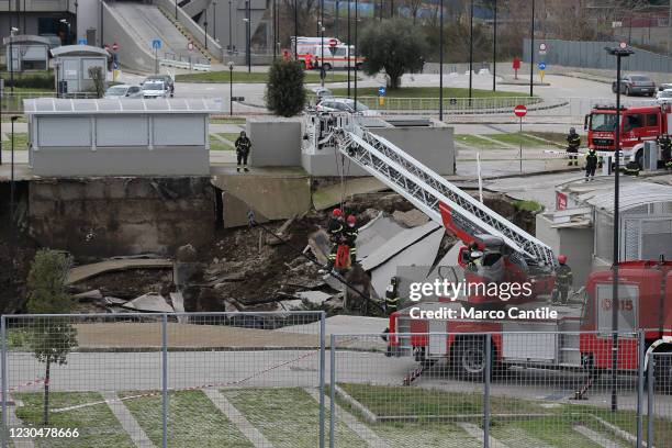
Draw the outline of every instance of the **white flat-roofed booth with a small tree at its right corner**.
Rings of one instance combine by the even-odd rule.
[[[90,45],[64,45],[52,49],[56,89],[59,93],[92,92],[89,68],[100,67],[107,78],[110,53]]]

